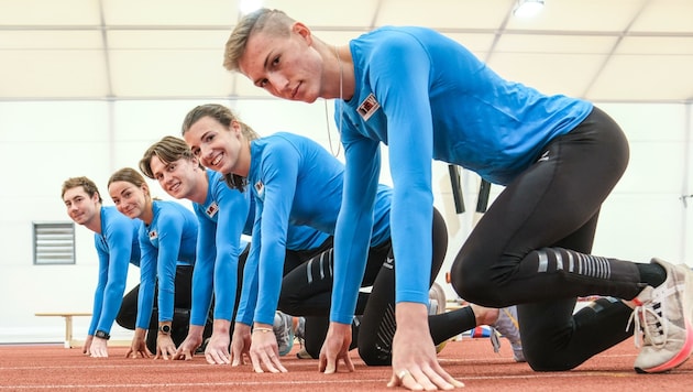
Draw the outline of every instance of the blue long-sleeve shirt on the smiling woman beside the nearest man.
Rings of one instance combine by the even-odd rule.
[[[256,213],[243,281],[243,295],[249,295],[249,301],[239,311],[244,323],[250,324],[249,313],[255,304],[253,320],[273,323],[283,272],[276,261],[284,258],[288,225],[334,232],[343,172],[343,164],[324,148],[297,134],[280,132],[251,142],[248,179]],[[373,224],[363,233],[372,246],[389,239],[391,189],[382,186],[380,190],[376,208],[371,211]],[[345,268],[358,270],[355,284],[360,285],[365,259]],[[344,301],[355,306],[356,297]]]

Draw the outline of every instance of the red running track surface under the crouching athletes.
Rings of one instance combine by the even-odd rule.
[[[288,373],[253,373],[250,366],[210,366],[191,361],[124,358],[127,348],[111,347],[109,358],[88,358],[80,349],[58,345],[0,346],[2,391],[404,391],[386,388],[388,367],[366,367],[352,351],[354,373],[321,374],[317,360],[283,358]],[[503,340],[499,353],[486,338],[448,342],[439,359],[466,386],[463,391],[691,391],[693,361],[666,374],[637,374],[632,339],[565,372],[532,371],[513,361]],[[659,391],[658,391],[659,390]]]

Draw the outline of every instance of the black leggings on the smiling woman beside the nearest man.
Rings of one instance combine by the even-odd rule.
[[[438,275],[448,249],[448,229],[446,222],[433,209],[432,222],[433,254],[431,262],[431,282]],[[355,341],[359,355],[366,364],[385,366],[392,361],[392,340],[395,335],[395,265],[392,243],[386,241],[369,251],[366,270],[362,287],[372,286],[371,293],[360,293],[356,302],[356,315],[363,315],[358,328]],[[320,352],[327,329],[333,282],[332,249],[308,260],[288,273],[282,283],[279,309],[296,316],[307,316],[306,320],[321,317],[322,327],[311,330],[306,326],[306,350],[314,357]],[[473,316],[473,315],[472,315]],[[317,325],[318,323],[316,323]],[[446,327],[436,342],[443,341],[460,333],[460,327]],[[433,324],[431,323],[431,328]],[[466,329],[473,327],[469,326]],[[355,331],[355,330],[354,330]],[[437,334],[439,335],[439,334]]]

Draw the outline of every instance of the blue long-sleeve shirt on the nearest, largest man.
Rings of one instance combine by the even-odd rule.
[[[506,185],[552,139],[592,110],[587,101],[546,96],[501,78],[459,43],[424,28],[381,28],[350,42],[355,91],[337,100],[345,151],[344,202],[336,231],[336,264],[364,253],[377,185],[378,143],[389,146],[394,182],[392,237],[396,301],[428,301],[432,217],[431,160],[458,164]],[[394,61],[398,59],[398,61]],[[337,268],[337,266],[336,266]],[[353,313],[339,301],[359,290],[336,276],[332,317]]]

